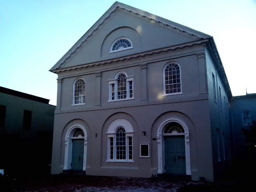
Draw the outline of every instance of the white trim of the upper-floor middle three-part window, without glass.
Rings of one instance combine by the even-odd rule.
[[[123,73],[126,77],[126,99],[117,99],[117,77]],[[115,79],[108,80],[108,102],[113,101],[123,101],[123,100],[132,100],[134,99],[134,85],[133,85],[133,76],[127,76],[123,71],[120,71],[116,74]],[[130,98],[129,82],[132,82],[132,98]],[[115,99],[112,100],[112,84],[115,84]]]

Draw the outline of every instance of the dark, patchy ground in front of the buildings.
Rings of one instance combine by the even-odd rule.
[[[171,181],[163,178],[121,178],[58,175],[19,179],[0,177],[0,191],[12,192],[213,192],[237,190],[234,183]],[[250,191],[250,190],[247,190]]]

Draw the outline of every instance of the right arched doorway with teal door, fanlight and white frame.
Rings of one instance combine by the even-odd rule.
[[[157,173],[191,175],[187,125],[177,118],[165,120],[157,129]]]

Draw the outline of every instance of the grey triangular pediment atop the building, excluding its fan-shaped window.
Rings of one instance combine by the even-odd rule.
[[[110,52],[118,37],[127,37],[132,49]],[[50,69],[68,68],[114,59],[210,37],[194,29],[116,2]]]

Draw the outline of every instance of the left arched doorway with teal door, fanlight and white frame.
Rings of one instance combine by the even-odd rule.
[[[86,171],[87,133],[83,126],[70,127],[65,137],[63,170]]]

